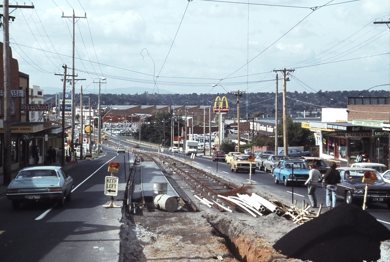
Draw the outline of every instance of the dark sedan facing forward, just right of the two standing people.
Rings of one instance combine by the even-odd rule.
[[[361,204],[364,199],[366,183],[362,182],[363,175],[369,171],[376,175],[373,185],[368,186],[367,203],[380,202],[390,208],[390,184],[386,183],[379,172],[373,168],[363,167],[339,167],[341,183],[337,184],[337,197],[344,199],[347,204]],[[346,173],[349,172],[350,178]]]

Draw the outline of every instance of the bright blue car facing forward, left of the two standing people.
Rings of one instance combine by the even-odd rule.
[[[273,169],[273,177],[275,184],[279,181],[283,181],[285,186],[288,186],[292,182],[294,177],[294,185],[304,184],[309,178],[309,167],[305,161],[296,160],[281,160]]]

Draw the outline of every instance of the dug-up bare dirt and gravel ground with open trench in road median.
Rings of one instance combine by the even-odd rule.
[[[179,208],[157,209],[151,197],[142,197],[142,161],[151,160],[142,157],[133,166],[132,208],[126,201],[122,207],[120,262],[390,261],[390,230],[355,205],[339,205],[318,217],[308,208],[314,218],[301,224],[270,211],[256,217],[242,208],[220,212],[200,202],[196,190],[164,163],[159,167],[180,195]],[[245,193],[273,198],[253,188]],[[305,204],[297,209],[303,211]]]

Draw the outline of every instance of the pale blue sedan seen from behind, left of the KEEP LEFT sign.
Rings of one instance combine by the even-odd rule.
[[[33,166],[21,169],[7,188],[14,209],[23,202],[51,200],[64,206],[72,198],[73,179],[60,166]]]

